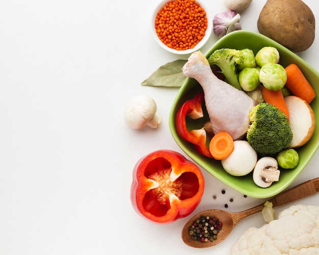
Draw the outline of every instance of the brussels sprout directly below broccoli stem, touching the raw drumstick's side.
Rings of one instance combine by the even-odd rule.
[[[244,68],[239,76],[238,81],[244,91],[252,91],[257,88],[259,82],[258,68]]]

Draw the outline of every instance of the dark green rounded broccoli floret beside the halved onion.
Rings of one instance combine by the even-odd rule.
[[[249,113],[248,143],[260,156],[271,156],[286,149],[293,132],[286,116],[274,105],[259,103]]]

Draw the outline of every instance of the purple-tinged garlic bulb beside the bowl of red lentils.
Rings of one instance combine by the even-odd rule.
[[[222,38],[230,32],[241,30],[240,19],[240,14],[230,10],[216,14],[212,20],[214,34],[218,38]]]

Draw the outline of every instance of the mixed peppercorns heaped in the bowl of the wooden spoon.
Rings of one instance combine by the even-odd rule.
[[[194,241],[214,241],[222,226],[222,222],[216,217],[200,216],[190,226],[189,234]]]

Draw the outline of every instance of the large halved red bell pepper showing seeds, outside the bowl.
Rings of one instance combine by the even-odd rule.
[[[134,209],[155,223],[191,214],[204,192],[200,168],[178,152],[158,150],[135,165],[130,199]]]

